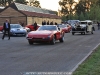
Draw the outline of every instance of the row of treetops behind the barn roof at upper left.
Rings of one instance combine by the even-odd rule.
[[[30,1],[27,1],[27,0],[0,0],[0,6],[4,6],[5,7],[5,6],[10,5],[13,2],[26,4],[26,5],[28,4],[30,6],[35,6],[35,7],[41,8],[40,2],[38,0],[30,0]]]

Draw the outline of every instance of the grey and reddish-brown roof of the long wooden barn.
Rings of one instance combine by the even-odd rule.
[[[8,7],[13,8],[13,9],[23,13],[26,16],[60,18],[59,16],[56,15],[55,11],[43,9],[43,8],[39,8],[39,7],[34,7],[34,6],[29,6],[29,5],[25,5],[25,4],[20,4],[20,3],[14,2],[14,3],[10,4],[9,6],[7,6],[5,9],[7,9]]]

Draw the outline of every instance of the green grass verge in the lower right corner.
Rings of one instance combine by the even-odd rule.
[[[100,75],[100,46],[79,65],[72,75]]]

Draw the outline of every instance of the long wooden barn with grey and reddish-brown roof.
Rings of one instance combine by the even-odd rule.
[[[52,10],[37,8],[20,3],[12,3],[0,12],[0,25],[5,19],[9,19],[10,23],[23,22],[25,25],[42,24],[42,21],[53,21],[61,23],[61,18]]]

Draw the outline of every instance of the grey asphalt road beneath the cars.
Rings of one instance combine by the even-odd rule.
[[[96,30],[93,35],[66,33],[64,43],[57,41],[55,45],[29,45],[25,37],[11,37],[10,40],[7,37],[2,40],[1,37],[2,34],[0,75],[30,75],[26,72],[69,73],[100,43],[100,30]]]

